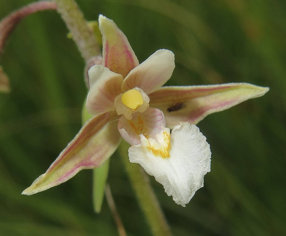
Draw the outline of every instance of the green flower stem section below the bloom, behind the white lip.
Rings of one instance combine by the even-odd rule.
[[[154,236],[171,236],[170,228],[152,190],[145,170],[139,164],[131,163],[128,159],[127,150],[129,146],[123,140],[118,150],[151,231]]]

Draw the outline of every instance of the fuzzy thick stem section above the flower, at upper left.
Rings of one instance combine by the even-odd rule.
[[[54,0],[54,2],[57,3],[57,11],[72,33],[84,60],[88,62],[92,56],[101,55],[96,38],[76,2],[74,0]]]

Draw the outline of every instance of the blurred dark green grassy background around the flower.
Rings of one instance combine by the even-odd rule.
[[[30,2],[1,1],[0,18]],[[185,208],[150,179],[174,235],[285,235],[286,1],[77,2],[88,20],[113,19],[139,62],[172,50],[168,85],[270,87],[198,124],[212,170]],[[0,235],[118,235],[106,200],[93,212],[91,170],[21,195],[81,127],[84,60],[67,33],[56,12],[36,13],[16,27],[1,57],[12,90],[0,94]],[[151,235],[116,153],[108,182],[128,235]]]

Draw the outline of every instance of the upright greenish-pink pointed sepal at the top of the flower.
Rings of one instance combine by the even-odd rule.
[[[113,20],[99,15],[98,22],[102,33],[102,65],[125,78],[133,68],[139,65],[138,59],[128,39]]]

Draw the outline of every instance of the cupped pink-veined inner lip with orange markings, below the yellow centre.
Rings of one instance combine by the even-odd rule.
[[[131,145],[141,143],[140,134],[154,138],[162,126],[165,127],[163,112],[150,107],[143,113],[134,113],[131,120],[123,118],[118,121],[118,130],[121,136]]]

